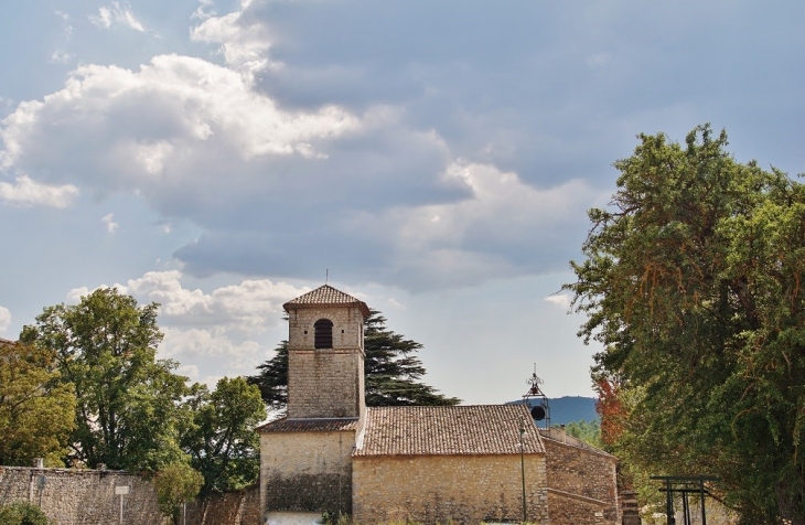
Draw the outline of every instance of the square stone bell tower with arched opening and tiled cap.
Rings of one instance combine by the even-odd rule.
[[[289,318],[288,419],[361,418],[366,303],[324,285],[282,308]]]

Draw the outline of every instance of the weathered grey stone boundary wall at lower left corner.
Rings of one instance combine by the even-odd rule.
[[[45,483],[40,489],[40,476]],[[116,486],[129,486],[124,497],[124,524],[160,525],[153,485],[122,471],[0,467],[0,505],[14,501],[40,505],[53,525],[119,523]]]

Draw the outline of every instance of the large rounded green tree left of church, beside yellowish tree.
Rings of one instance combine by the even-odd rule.
[[[154,471],[182,456],[175,422],[186,378],[173,374],[175,362],[155,360],[157,309],[104,288],[45,308],[22,330],[22,342],[54,352],[61,381],[73,385],[71,447],[89,467]]]

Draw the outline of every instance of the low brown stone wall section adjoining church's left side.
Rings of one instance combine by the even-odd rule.
[[[186,506],[187,525],[262,525],[258,485],[214,494]]]

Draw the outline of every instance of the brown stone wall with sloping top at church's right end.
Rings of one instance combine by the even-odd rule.
[[[561,439],[561,436],[556,436]],[[589,447],[562,443],[543,433],[543,444],[547,456],[548,488],[561,493],[573,494],[581,499],[601,502],[605,524],[620,521],[618,508],[618,481],[615,467],[618,459],[603,451]],[[558,521],[551,505],[551,525],[575,525],[582,522]],[[584,522],[599,523],[599,522]]]

